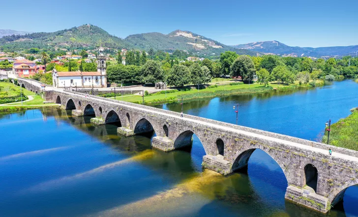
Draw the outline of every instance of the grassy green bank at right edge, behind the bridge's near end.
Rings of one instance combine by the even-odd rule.
[[[330,126],[329,144],[358,151],[358,108],[351,109],[352,114],[338,120]],[[328,131],[322,138],[327,143]]]

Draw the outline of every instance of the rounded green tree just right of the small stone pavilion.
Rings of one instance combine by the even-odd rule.
[[[174,65],[169,71],[167,83],[173,86],[184,86],[190,82],[190,71],[184,65]]]

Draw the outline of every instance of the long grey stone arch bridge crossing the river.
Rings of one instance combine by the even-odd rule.
[[[206,152],[203,167],[224,175],[247,167],[253,151],[262,149],[286,176],[285,198],[323,213],[358,184],[357,151],[72,91],[53,89],[45,95],[73,115],[92,115],[93,124],[117,123],[119,134],[154,131],[152,146],[163,151],[190,146],[195,134]]]

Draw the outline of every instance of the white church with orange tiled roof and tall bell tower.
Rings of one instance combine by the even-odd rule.
[[[53,69],[53,86],[64,87],[107,87],[107,67],[103,48],[99,48],[97,56],[97,72],[58,72]]]

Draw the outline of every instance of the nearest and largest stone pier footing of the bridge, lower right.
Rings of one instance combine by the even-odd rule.
[[[287,187],[285,199],[322,213],[327,213],[330,209],[327,197],[292,185]]]

